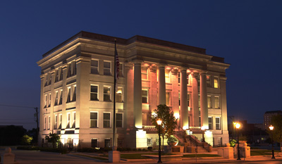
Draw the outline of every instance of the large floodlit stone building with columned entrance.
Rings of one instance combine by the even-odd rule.
[[[117,146],[156,144],[158,134],[150,117],[158,104],[171,108],[178,130],[201,137],[195,130],[204,127],[209,144],[228,143],[225,70],[229,64],[223,58],[159,39],[90,32],[75,34],[37,62],[42,68],[40,142],[56,132],[63,143],[111,146],[115,39],[120,61]]]

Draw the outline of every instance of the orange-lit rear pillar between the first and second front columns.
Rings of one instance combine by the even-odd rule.
[[[158,82],[157,82],[157,65],[151,65],[150,68],[150,89],[149,89],[149,112],[152,113],[158,106]],[[149,120],[149,119],[147,119]],[[149,124],[148,124],[149,123]],[[152,125],[152,122],[147,121],[147,125]]]

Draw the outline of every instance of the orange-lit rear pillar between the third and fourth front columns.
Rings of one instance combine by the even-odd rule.
[[[198,72],[192,72],[192,127],[199,127]]]

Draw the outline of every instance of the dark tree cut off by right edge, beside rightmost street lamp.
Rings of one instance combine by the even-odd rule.
[[[271,125],[274,126],[273,139],[280,143],[280,150],[282,151],[282,115],[274,115],[271,118]],[[271,134],[270,130],[267,130],[267,132]]]

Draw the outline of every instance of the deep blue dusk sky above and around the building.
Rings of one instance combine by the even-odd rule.
[[[0,125],[36,126],[36,62],[82,30],[207,49],[231,64],[228,115],[263,123],[282,110],[282,1],[0,1]]]

